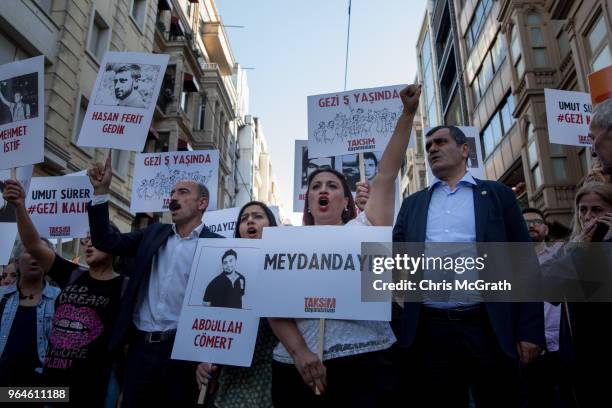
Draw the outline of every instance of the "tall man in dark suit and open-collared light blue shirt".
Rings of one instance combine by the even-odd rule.
[[[463,132],[439,126],[426,138],[435,178],[404,200],[393,241],[529,242],[512,190],[467,171]],[[541,303],[404,303],[394,328],[422,406],[466,407],[470,392],[476,407],[517,406],[519,361],[530,362],[544,344],[542,310]]]

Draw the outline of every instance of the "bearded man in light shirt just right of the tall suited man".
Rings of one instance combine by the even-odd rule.
[[[537,208],[525,208],[523,218],[527,224],[529,237],[535,243],[535,251],[540,264],[550,260],[561,249],[563,244],[557,242],[547,245],[548,226],[542,211]],[[524,370],[524,381],[527,387],[529,406],[555,407],[559,404],[559,326],[561,305],[544,302],[544,335],[545,351],[534,359]]]

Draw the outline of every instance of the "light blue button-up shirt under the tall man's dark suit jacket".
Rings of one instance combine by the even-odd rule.
[[[429,190],[431,201],[427,211],[425,242],[476,242],[476,217],[473,188],[476,180],[466,172],[454,189],[434,177]],[[425,305],[439,309],[466,307],[477,302],[433,302]]]

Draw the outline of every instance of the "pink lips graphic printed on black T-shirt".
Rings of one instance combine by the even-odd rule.
[[[80,348],[98,338],[103,330],[102,321],[94,310],[61,305],[55,311],[50,341],[57,348]]]

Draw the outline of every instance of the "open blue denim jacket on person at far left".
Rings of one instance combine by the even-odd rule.
[[[55,313],[55,298],[59,293],[59,288],[51,286],[45,281],[45,288],[43,289],[40,303],[36,307],[36,344],[40,360],[40,367],[36,369],[38,373],[42,373],[42,365],[45,361],[47,343],[53,324],[53,314]],[[11,333],[13,320],[17,314],[17,307],[19,306],[19,292],[17,291],[16,284],[0,287],[0,299],[7,295],[8,300],[4,305],[4,312],[0,321],[0,355],[4,352],[8,336]]]

